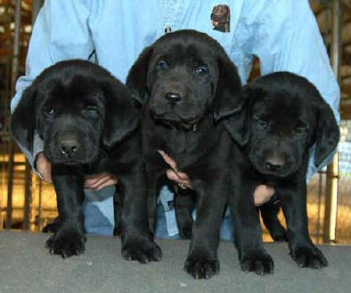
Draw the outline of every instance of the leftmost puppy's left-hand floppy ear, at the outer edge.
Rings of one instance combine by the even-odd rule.
[[[34,109],[36,92],[35,85],[27,87],[11,117],[12,137],[30,152],[33,151],[33,137],[36,125],[36,111]]]

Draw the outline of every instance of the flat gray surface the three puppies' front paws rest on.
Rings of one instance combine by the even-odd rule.
[[[120,256],[115,238],[88,237],[86,253],[62,259],[44,248],[47,234],[0,232],[0,293],[51,292],[351,292],[351,247],[322,246],[330,265],[320,271],[300,269],[285,244],[268,243],[273,275],[242,273],[231,243],[219,248],[221,273],[193,280],[183,271],[189,242],[159,240],[160,263],[140,265]]]

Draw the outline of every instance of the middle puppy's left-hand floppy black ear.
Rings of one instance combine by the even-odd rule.
[[[129,69],[126,85],[131,90],[132,94],[144,99],[147,85],[147,76],[149,69],[149,60],[152,54],[152,46],[143,49],[138,59]]]

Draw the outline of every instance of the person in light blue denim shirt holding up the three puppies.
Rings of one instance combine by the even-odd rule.
[[[339,85],[307,0],[45,0],[32,31],[26,75],[18,79],[12,111],[33,79],[58,61],[93,61],[124,82],[145,46],[166,32],[183,28],[205,32],[223,45],[243,84],[254,56],[260,61],[262,74],[287,70],[308,78],[331,105],[339,122]],[[42,153],[40,138],[36,135],[32,153],[22,151],[39,175],[50,182],[51,166]],[[317,171],[311,158],[307,179]],[[170,164],[174,164],[171,159]],[[182,173],[169,171],[168,177],[189,184]],[[111,196],[117,182],[118,178],[109,174],[86,179],[86,232],[112,234]],[[272,194],[272,188],[259,186],[256,204]],[[177,237],[172,200],[173,194],[163,187],[157,237]],[[228,215],[224,217],[221,237],[233,238]]]

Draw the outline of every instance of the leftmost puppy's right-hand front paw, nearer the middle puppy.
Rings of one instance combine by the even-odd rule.
[[[127,260],[136,260],[141,264],[148,264],[151,261],[159,262],[162,258],[162,251],[151,240],[129,240],[122,247],[122,256]]]

